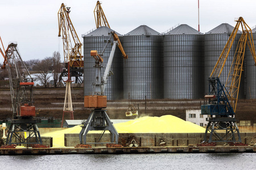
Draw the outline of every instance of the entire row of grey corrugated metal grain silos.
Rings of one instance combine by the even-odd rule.
[[[128,58],[115,50],[112,70],[105,95],[108,100],[120,99],[203,99],[209,93],[208,77],[225,47],[234,27],[220,24],[203,34],[187,24],[181,24],[167,33],[159,33],[141,25],[124,36],[119,35]],[[101,50],[109,33],[100,27],[84,37],[84,95],[92,94],[94,58],[90,50]],[[253,30],[256,45],[256,29]],[[220,80],[226,83],[230,65],[236,52],[241,31],[230,49]],[[111,45],[106,48],[104,62],[108,61]],[[255,46],[256,48],[256,46]],[[240,85],[240,98],[256,98],[256,67],[249,49],[246,51],[245,73]]]

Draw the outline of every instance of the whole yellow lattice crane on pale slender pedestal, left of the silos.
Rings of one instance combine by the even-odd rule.
[[[81,67],[84,67],[84,62],[82,61],[81,55],[81,42],[77,36],[76,30],[73,27],[71,19],[69,18],[70,7],[65,7],[64,3],[61,4],[60,10],[58,12],[59,17],[59,36],[62,32],[63,37],[63,50],[64,50],[64,61],[66,64],[67,69],[63,71],[61,76],[68,76],[68,79],[65,81],[66,83],[66,91],[65,91],[65,100],[64,100],[64,108],[63,108],[63,117],[61,121],[61,127],[63,127],[64,122],[64,113],[69,113],[69,119],[73,120],[73,104],[72,104],[72,97],[71,97],[71,76],[77,78],[82,76],[84,72]],[[72,47],[71,36],[72,35],[73,42],[75,46]],[[77,67],[80,67],[78,69]]]

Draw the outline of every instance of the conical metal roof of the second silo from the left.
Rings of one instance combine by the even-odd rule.
[[[137,36],[137,35],[151,36],[151,35],[161,35],[161,33],[155,31],[154,29],[148,27],[147,25],[141,25],[133,29],[133,31],[130,31],[125,34],[125,36]]]

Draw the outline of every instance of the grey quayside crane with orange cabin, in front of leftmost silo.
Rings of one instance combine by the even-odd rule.
[[[113,37],[113,46],[112,50],[109,55],[108,63],[106,65],[104,74],[103,73],[103,61],[102,58],[103,53],[106,49],[106,46],[110,44]],[[108,114],[106,113],[106,104],[107,104],[107,97],[104,95],[106,85],[108,82],[108,77],[111,75],[110,67],[112,66],[112,61],[114,57],[114,52],[116,46],[119,47],[119,49],[122,52],[122,56],[124,59],[127,58],[127,55],[125,54],[125,51],[122,48],[121,42],[115,32],[110,32],[109,40],[106,42],[106,45],[101,53],[98,53],[97,50],[91,50],[90,56],[92,56],[95,59],[95,82],[92,83],[93,86],[93,92],[90,96],[84,97],[84,107],[92,109],[92,112],[90,113],[88,119],[84,122],[82,122],[82,130],[80,131],[79,138],[80,138],[80,144],[88,144],[86,142],[86,134],[90,130],[102,130],[105,131],[109,130],[112,134],[111,137],[111,143],[118,143],[118,137],[119,134],[117,130],[115,130],[112,122],[110,121],[110,118]],[[102,135],[104,134],[102,133]],[[100,143],[100,141],[96,142]],[[89,143],[91,144],[91,143]]]

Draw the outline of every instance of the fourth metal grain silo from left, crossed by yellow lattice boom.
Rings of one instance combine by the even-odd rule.
[[[220,24],[216,28],[213,28],[209,32],[205,33],[204,35],[204,82],[205,82],[205,94],[209,93],[209,86],[208,86],[208,77],[212,73],[212,70],[214,66],[216,65],[218,58],[220,57],[220,54],[222,50],[224,49],[226,42],[229,39],[230,34],[232,33],[234,27],[232,25],[229,25],[227,23]],[[232,48],[230,49],[229,56],[226,60],[225,67],[221,73],[220,81],[222,84],[226,83],[226,79],[228,78],[229,69],[232,64],[232,60],[234,57],[234,54],[236,52],[238,40],[241,36],[241,31],[237,32],[236,39],[233,42]],[[243,75],[242,75],[243,76]],[[244,81],[242,77],[242,82],[240,83],[240,92],[239,96],[242,98],[244,95]]]

